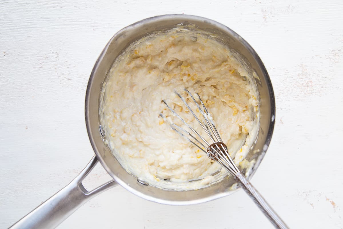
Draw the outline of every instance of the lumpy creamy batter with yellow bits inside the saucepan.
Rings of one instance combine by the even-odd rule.
[[[156,187],[189,190],[222,179],[224,171],[212,176],[218,163],[171,129],[170,122],[187,127],[162,100],[206,138],[174,91],[198,115],[184,89],[199,93],[239,164],[259,124],[258,93],[244,66],[222,43],[184,27],[140,39],[116,59],[103,85],[99,112],[106,144],[123,168]]]

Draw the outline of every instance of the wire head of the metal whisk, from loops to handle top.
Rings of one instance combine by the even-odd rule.
[[[187,94],[192,98],[193,102],[197,105],[198,110],[201,113],[201,117],[197,117],[197,115],[193,112],[191,107],[188,105],[186,100],[175,91],[175,94],[177,94],[182,102],[186,105],[188,110],[191,112],[191,114],[194,116],[195,119],[197,119],[200,126],[205,130],[205,133],[209,136],[211,143],[206,141],[196,130],[194,130],[186,121],[181,118],[180,115],[178,115],[173,108],[171,108],[165,100],[163,100],[164,104],[168,107],[168,109],[177,117],[179,118],[182,123],[184,123],[191,131],[191,133],[184,128],[176,125],[175,123],[170,123],[170,126],[173,130],[175,130],[178,134],[180,134],[182,137],[187,139],[188,141],[192,142],[195,146],[197,146],[200,150],[205,152],[207,156],[219,164],[221,164],[227,171],[229,171],[232,175],[236,175],[239,173],[239,170],[232,160],[228,150],[227,146],[223,143],[222,138],[220,137],[217,129],[215,128],[214,122],[212,120],[212,116],[209,114],[208,110],[205,107],[205,104],[200,98],[200,95],[196,93],[200,104],[203,108],[200,107],[192,93],[190,93],[187,89],[185,89]],[[165,119],[164,115],[161,113],[160,116]],[[202,119],[202,121],[200,120]],[[193,133],[193,134],[192,134]],[[196,136],[194,136],[196,135]],[[189,137],[188,137],[189,136]]]

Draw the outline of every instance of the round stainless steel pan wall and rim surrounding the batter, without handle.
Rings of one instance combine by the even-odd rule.
[[[180,23],[184,25],[193,24],[196,25],[199,30],[216,34],[223,43],[243,55],[259,76],[259,79],[257,79],[257,85],[261,100],[261,124],[256,145],[247,156],[249,161],[252,159],[256,159],[257,161],[255,166],[252,168],[250,176],[256,171],[265,151],[268,148],[275,118],[273,89],[262,61],[252,47],[228,27],[198,16],[162,15],[139,21],[116,33],[108,42],[102,54],[96,61],[88,82],[85,101],[85,116],[88,135],[99,161],[120,185],[142,198],[171,205],[197,204],[226,196],[233,192],[230,190],[230,187],[235,184],[236,181],[233,178],[224,179],[220,183],[214,184],[210,187],[182,192],[162,190],[138,182],[137,178],[127,173],[120,166],[113,154],[104,145],[102,137],[99,134],[100,123],[98,108],[102,84],[116,57],[137,39],[154,31],[169,30]],[[243,172],[244,171],[245,170],[243,170]]]

